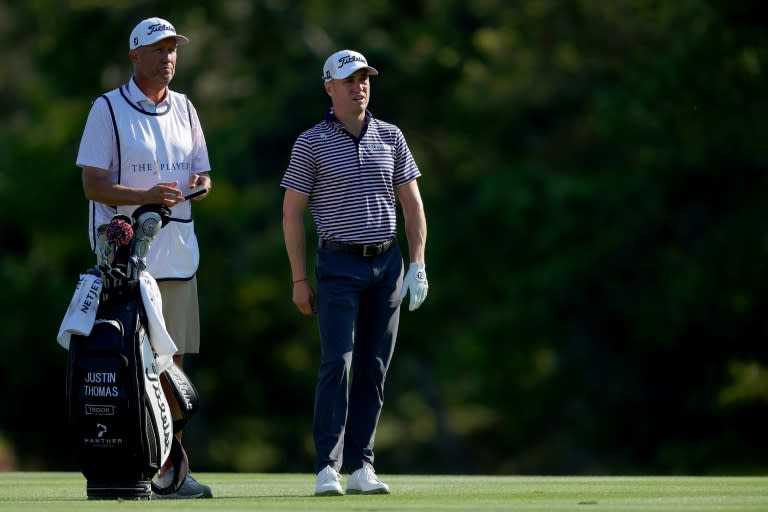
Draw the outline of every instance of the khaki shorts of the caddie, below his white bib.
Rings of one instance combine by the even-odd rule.
[[[200,306],[197,277],[187,281],[158,281],[163,299],[163,317],[168,334],[176,344],[176,355],[200,352]]]

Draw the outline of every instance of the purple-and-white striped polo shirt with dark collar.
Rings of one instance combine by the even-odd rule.
[[[395,236],[395,188],[419,176],[397,126],[366,111],[358,139],[330,109],[296,139],[280,186],[309,196],[320,238],[374,243]]]

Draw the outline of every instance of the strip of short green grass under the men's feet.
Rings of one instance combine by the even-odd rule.
[[[314,475],[196,473],[212,500],[87,501],[79,473],[0,473],[0,512],[114,511],[768,511],[768,477],[382,475],[388,496],[316,498]]]

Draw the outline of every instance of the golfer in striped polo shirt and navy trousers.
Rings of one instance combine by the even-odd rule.
[[[401,131],[368,111],[370,77],[378,71],[355,51],[325,61],[331,100],[325,118],[294,143],[280,185],[283,230],[293,274],[293,302],[317,312],[320,368],[315,388],[315,494],[388,494],[374,471],[376,426],[395,349],[400,303],[427,296],[427,224],[420,176]],[[397,241],[399,200],[409,266]],[[307,275],[304,212],[317,229],[315,292]]]

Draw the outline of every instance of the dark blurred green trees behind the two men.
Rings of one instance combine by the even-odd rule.
[[[140,19],[192,43],[198,471],[307,471],[318,342],[279,179],[362,51],[423,172],[430,295],[404,311],[384,472],[768,468],[768,8],[749,0],[0,1],[0,468],[72,469],[55,342],[93,264],[74,165]],[[311,223],[309,223],[311,227]],[[312,231],[310,231],[312,236]]]

